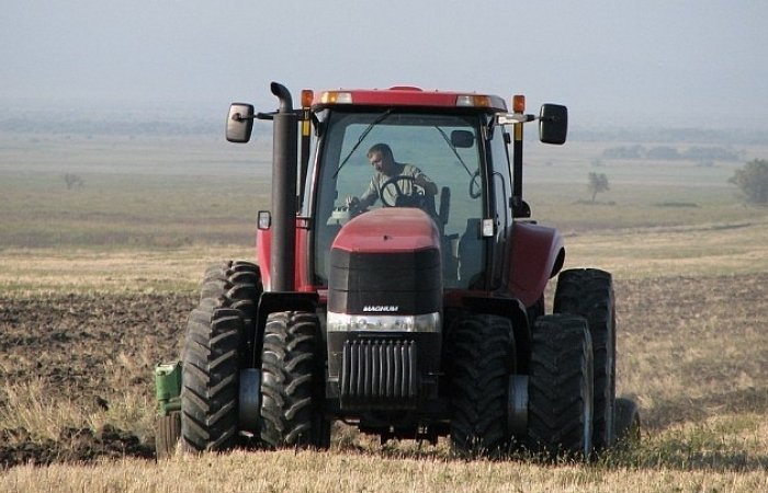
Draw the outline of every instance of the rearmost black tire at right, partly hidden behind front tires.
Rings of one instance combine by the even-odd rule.
[[[615,439],[615,310],[611,275],[595,268],[562,272],[554,312],[587,319],[595,354],[592,445],[598,451],[608,449]]]

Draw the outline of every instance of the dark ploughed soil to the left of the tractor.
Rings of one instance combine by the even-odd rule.
[[[0,378],[3,386],[39,379],[45,401],[106,411],[126,393],[154,405],[156,363],[178,358],[194,300],[177,295],[0,296]],[[2,402],[0,408],[10,403]],[[154,413],[150,406],[147,413]],[[153,437],[103,425],[64,427],[57,438],[38,431],[0,429],[0,467],[153,457]]]

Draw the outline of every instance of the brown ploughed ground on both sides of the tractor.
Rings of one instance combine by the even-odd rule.
[[[768,273],[617,280],[615,290],[620,391],[639,399],[645,426],[768,412]],[[49,402],[90,413],[138,394],[147,403],[142,412],[153,415],[153,368],[178,357],[194,298],[0,294],[0,382],[38,379]],[[0,412],[12,404],[2,395]],[[41,437],[0,423],[0,469],[153,455],[147,429],[65,426]]]

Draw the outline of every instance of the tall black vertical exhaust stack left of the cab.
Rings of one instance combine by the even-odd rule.
[[[280,100],[274,115],[272,141],[272,291],[295,290],[296,249],[296,168],[298,116],[293,111],[291,92],[272,82],[272,94]]]

